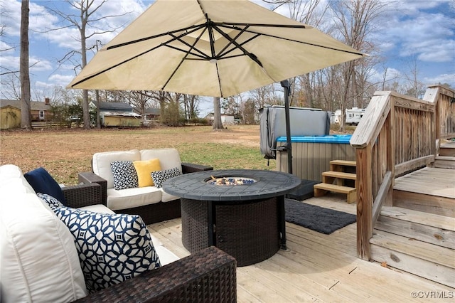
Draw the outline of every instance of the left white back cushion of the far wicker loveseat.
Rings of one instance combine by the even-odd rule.
[[[111,162],[114,161],[138,161],[141,159],[139,150],[130,151],[105,151],[93,155],[93,172],[107,180],[107,188],[114,187],[114,175],[111,170]]]

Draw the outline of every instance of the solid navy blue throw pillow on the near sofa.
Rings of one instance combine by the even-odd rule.
[[[47,193],[49,196],[53,196],[58,201],[66,205],[65,196],[63,196],[62,188],[58,185],[57,181],[52,176],[40,167],[39,169],[33,169],[23,175],[28,184],[31,185],[34,191],[37,193]]]

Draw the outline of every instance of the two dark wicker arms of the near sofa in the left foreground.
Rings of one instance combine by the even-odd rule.
[[[97,183],[62,188],[68,206],[102,204]],[[236,302],[237,263],[214,246],[144,272],[77,302]]]

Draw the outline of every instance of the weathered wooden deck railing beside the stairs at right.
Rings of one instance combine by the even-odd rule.
[[[392,206],[395,176],[434,162],[439,139],[455,137],[454,90],[434,85],[424,100],[375,92],[350,144],[357,161],[357,253],[370,258],[370,238],[383,205]]]

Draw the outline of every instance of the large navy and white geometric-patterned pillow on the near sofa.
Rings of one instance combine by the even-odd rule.
[[[52,199],[43,200],[73,234],[88,292],[161,266],[149,230],[140,216],[57,207]]]

